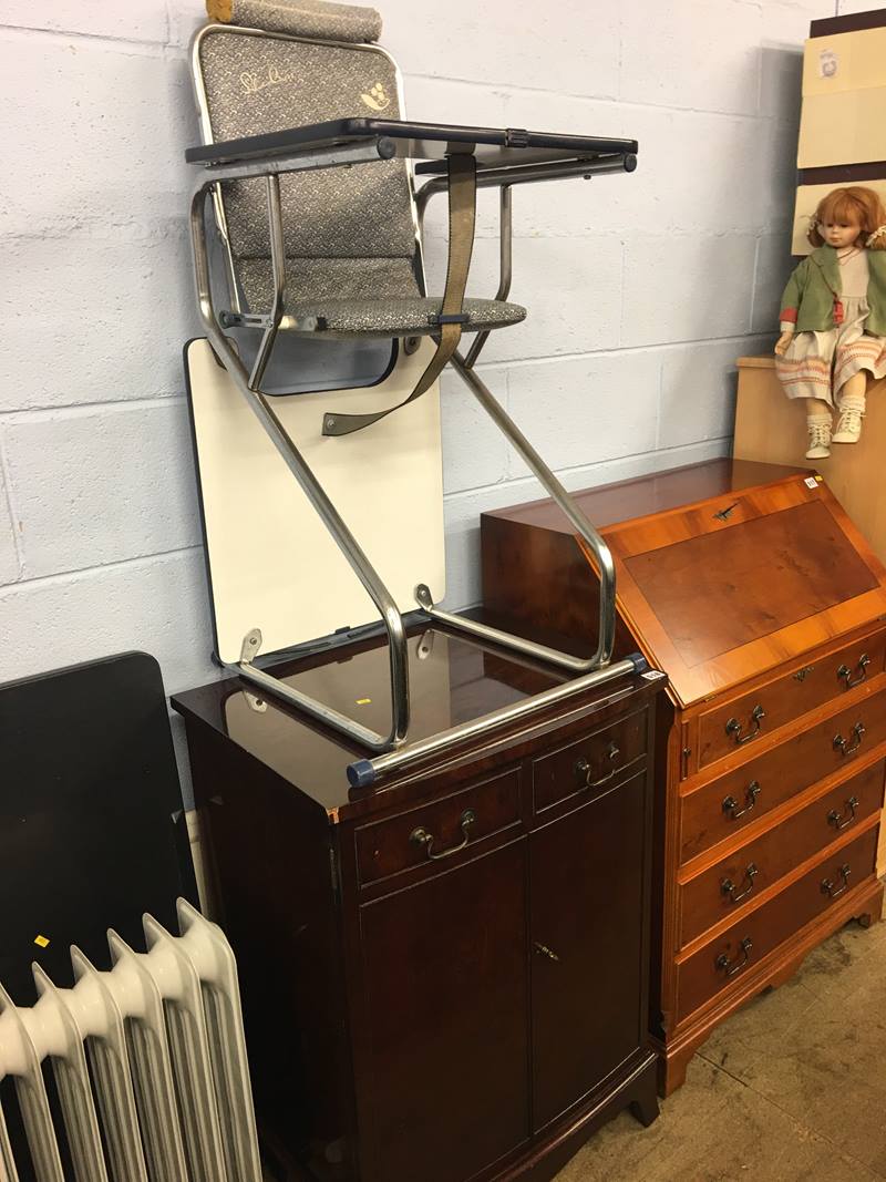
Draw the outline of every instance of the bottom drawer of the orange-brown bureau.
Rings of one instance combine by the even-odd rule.
[[[878,826],[822,858],[763,907],[740,918],[677,970],[677,1014],[683,1020],[789,940],[848,890],[873,875]]]

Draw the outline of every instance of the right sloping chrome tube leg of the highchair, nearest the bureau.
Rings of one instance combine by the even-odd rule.
[[[533,475],[566,514],[580,539],[580,544],[584,543],[582,548],[586,548],[586,552],[589,551],[588,557],[597,565],[600,577],[599,638],[591,667],[597,668],[608,664],[612,660],[612,650],[615,644],[615,564],[613,563],[610,547],[579,509],[513,418],[502,409],[497,400],[493,397],[486,383],[477,377],[475,370],[468,369],[461,353],[456,353],[450,364],[461,375],[474,397],[507,437],[508,442],[520,453]]]

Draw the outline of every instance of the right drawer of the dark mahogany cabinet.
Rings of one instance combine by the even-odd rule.
[[[533,760],[535,812],[571,797],[593,794],[636,772],[646,753],[646,715],[645,709],[638,710]]]

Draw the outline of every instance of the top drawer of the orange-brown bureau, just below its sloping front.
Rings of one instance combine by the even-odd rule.
[[[771,734],[807,710],[840,697],[884,669],[886,632],[854,641],[836,652],[786,674],[703,714],[698,721],[698,766],[706,767],[758,735]]]

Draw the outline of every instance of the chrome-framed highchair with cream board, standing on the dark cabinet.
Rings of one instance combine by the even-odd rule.
[[[206,144],[187,152],[200,169],[191,233],[208,340],[190,343],[187,366],[216,654],[262,697],[276,695],[365,751],[348,767],[361,787],[644,668],[639,656],[611,662],[614,567],[605,543],[475,368],[489,333],[526,316],[508,301],[512,189],[630,173],[637,143],[408,122],[398,70],[376,44],[374,11],[321,0],[209,0],[209,8],[221,22],[202,28],[193,50]],[[487,187],[500,194],[500,281],[494,299],[474,299],[465,284],[476,190]],[[422,221],[437,193],[449,201],[448,272],[442,294],[429,296]],[[462,355],[465,332],[475,336]],[[587,660],[435,606],[444,586],[437,378],[445,365],[566,513],[599,572],[599,635]],[[542,661],[562,680],[411,739],[403,613],[417,610]],[[386,733],[255,661],[260,649],[279,654],[376,615],[390,655]],[[254,702],[262,707],[258,693]]]

